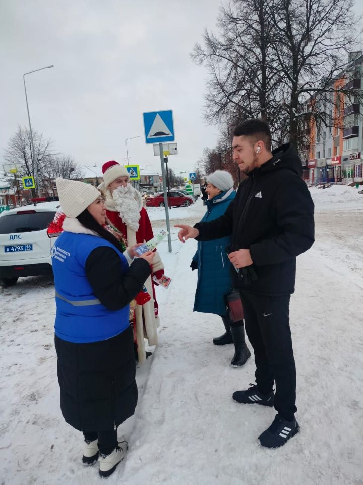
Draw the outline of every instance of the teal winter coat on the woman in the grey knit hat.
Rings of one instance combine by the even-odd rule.
[[[222,216],[235,197],[234,190],[219,193],[207,201],[207,212],[200,222],[210,222]],[[195,312],[226,314],[224,296],[232,286],[233,266],[225,247],[230,236],[212,241],[198,241],[193,260],[198,264],[198,282],[194,300]]]

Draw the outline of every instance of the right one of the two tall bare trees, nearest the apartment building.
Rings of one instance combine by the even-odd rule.
[[[283,106],[289,117],[289,140],[304,143],[306,121],[319,126],[341,125],[325,109],[334,93],[337,104],[351,104],[363,96],[349,87],[351,58],[359,37],[353,0],[269,0],[268,14],[274,26],[272,44],[277,67],[284,79]],[[337,80],[343,82],[336,82]],[[308,107],[308,109],[307,109]],[[343,126],[339,126],[342,128]]]

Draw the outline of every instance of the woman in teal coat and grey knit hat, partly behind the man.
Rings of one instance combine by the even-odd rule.
[[[216,170],[207,177],[207,212],[201,222],[210,222],[222,216],[235,197],[233,178],[225,170]],[[194,311],[214,313],[222,317],[225,333],[213,338],[215,345],[234,343],[231,365],[241,366],[251,353],[245,342],[244,321],[233,322],[227,312],[225,296],[232,286],[233,267],[225,248],[230,244],[229,236],[211,241],[198,241],[191,268],[198,269],[198,282],[194,300]]]

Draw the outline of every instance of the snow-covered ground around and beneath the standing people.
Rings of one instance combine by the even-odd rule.
[[[313,188],[316,243],[298,258],[291,329],[297,365],[296,415],[301,432],[278,450],[258,435],[274,411],[238,405],[236,389],[253,382],[252,359],[229,366],[232,346],[214,315],[193,313],[196,243],[172,230],[172,253],[160,245],[169,289],[157,288],[160,345],[138,369],[136,415],[119,427],[125,462],[107,483],[124,485],[363,484],[363,195],[346,186]],[[199,200],[170,211],[172,224],[194,223]],[[149,210],[155,229],[162,209]],[[23,278],[0,289],[0,484],[100,482],[80,464],[82,438],[58,405],[51,278]],[[360,458],[359,458],[360,457]]]

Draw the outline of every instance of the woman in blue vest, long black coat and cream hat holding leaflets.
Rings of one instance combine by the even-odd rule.
[[[65,420],[84,434],[82,461],[98,459],[109,476],[124,458],[117,426],[135,411],[129,303],[150,275],[154,253],[132,261],[103,226],[106,207],[92,185],[56,179],[64,232],[51,250],[55,284],[55,349]],[[130,266],[129,266],[130,263]]]

